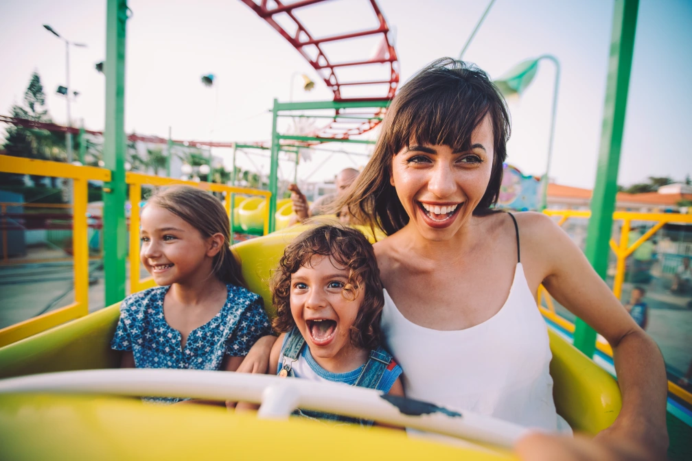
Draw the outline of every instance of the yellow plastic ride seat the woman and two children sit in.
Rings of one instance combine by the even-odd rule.
[[[271,305],[268,280],[284,247],[307,226],[299,225],[235,245],[248,288]],[[369,230],[369,229],[368,229]],[[372,235],[368,236],[372,239]],[[119,317],[119,305],[93,312],[33,337],[0,348],[0,377],[59,370],[113,368],[119,354],[110,341]],[[622,400],[617,382],[574,346],[549,330],[553,359],[554,399],[558,413],[575,431],[595,434],[610,426]]]

